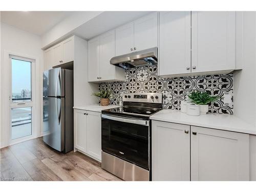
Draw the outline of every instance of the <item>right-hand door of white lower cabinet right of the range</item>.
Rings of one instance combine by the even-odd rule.
[[[191,126],[191,180],[248,181],[249,135]]]

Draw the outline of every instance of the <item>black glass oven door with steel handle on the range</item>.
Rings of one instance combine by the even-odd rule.
[[[150,125],[148,120],[101,115],[103,152],[150,169]]]

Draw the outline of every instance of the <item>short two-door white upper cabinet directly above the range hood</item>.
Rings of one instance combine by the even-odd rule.
[[[157,47],[158,13],[116,28],[116,56]]]

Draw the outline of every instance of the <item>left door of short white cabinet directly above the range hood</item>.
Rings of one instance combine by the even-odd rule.
[[[134,22],[116,28],[116,56],[133,52]]]

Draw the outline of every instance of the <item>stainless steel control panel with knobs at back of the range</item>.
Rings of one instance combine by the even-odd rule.
[[[123,101],[162,103],[162,93],[124,93]]]

